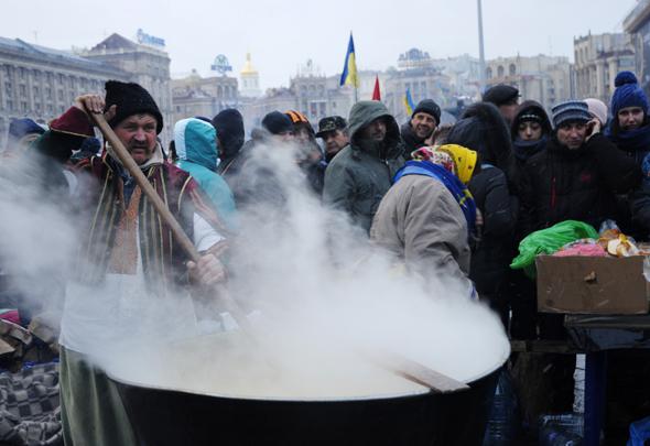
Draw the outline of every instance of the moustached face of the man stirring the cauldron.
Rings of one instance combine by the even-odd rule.
[[[115,133],[137,164],[144,164],[153,155],[156,144],[156,120],[152,115],[132,115],[116,126]]]

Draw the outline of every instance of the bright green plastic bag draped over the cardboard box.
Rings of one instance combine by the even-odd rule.
[[[577,239],[597,239],[598,232],[593,226],[582,221],[566,220],[548,229],[542,229],[528,235],[519,243],[519,255],[512,260],[510,268],[521,270],[526,274],[535,278],[535,257],[538,254],[552,254],[564,244]]]

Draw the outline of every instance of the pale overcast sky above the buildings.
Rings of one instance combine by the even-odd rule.
[[[396,65],[419,47],[432,57],[478,56],[476,0],[164,1],[1,0],[0,33],[45,46],[90,47],[138,29],[162,37],[172,75],[209,75],[217,54],[235,73],[250,51],[263,88],[288,85],[307,58],[340,73],[350,30],[359,69]],[[483,0],[486,57],[537,54],[573,59],[573,37],[620,32],[636,0]]]

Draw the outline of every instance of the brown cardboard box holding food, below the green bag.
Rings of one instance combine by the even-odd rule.
[[[538,311],[575,314],[646,314],[650,258],[538,255]]]

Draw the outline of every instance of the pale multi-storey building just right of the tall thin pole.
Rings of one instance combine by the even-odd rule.
[[[498,57],[486,61],[486,87],[498,84],[519,89],[521,100],[537,100],[546,110],[573,96],[567,57]]]

